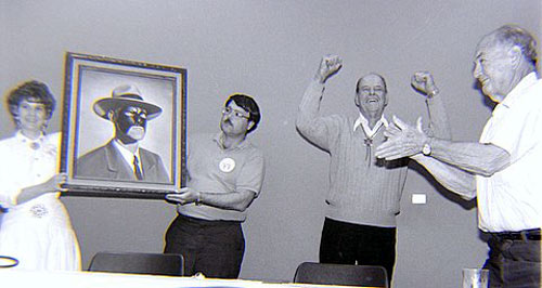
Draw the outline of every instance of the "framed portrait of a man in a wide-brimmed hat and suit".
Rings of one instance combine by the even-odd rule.
[[[66,196],[164,199],[185,183],[186,69],[66,53]]]

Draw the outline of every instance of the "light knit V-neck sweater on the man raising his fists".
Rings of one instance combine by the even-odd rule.
[[[317,81],[309,84],[296,125],[307,140],[331,156],[326,217],[354,224],[395,227],[409,159],[384,161],[374,157],[375,147],[384,142],[385,127],[374,135],[369,149],[363,129],[353,130],[356,118],[320,117],[323,91],[324,86]],[[430,109],[431,105],[428,106]],[[441,120],[447,126],[446,118]]]

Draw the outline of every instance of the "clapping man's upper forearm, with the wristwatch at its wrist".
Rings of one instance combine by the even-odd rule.
[[[429,139],[431,157],[467,172],[490,176],[509,163],[509,154],[495,145]]]

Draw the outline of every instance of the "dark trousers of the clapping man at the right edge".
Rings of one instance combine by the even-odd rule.
[[[540,288],[540,230],[526,235],[514,233],[514,237],[506,234],[490,233],[488,246],[489,257],[483,269],[489,270],[489,286]]]

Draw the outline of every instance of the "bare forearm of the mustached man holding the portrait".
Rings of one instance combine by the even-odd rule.
[[[256,194],[251,191],[231,193],[199,192],[198,196],[199,204],[243,212],[253,202]]]

